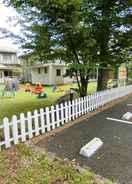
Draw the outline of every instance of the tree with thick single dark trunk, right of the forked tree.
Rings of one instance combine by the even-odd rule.
[[[89,3],[88,3],[89,4]],[[131,8],[130,1],[102,0],[96,1],[93,18],[95,21],[95,37],[98,45],[99,78],[97,90],[107,86],[106,68],[124,62],[122,50],[130,50]]]

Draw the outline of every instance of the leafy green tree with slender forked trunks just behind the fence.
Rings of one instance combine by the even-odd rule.
[[[23,47],[40,54],[43,61],[54,57],[64,60],[76,76],[80,96],[86,96],[95,68],[96,41],[91,25],[85,24],[82,0],[11,0],[10,4],[30,20]]]

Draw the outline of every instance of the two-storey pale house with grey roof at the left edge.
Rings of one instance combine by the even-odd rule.
[[[0,47],[0,79],[20,76],[20,66],[16,49]]]

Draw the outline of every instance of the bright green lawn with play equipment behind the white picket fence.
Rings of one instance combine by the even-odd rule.
[[[77,84],[61,86],[65,91],[70,87],[77,87]],[[14,114],[19,116],[21,112],[26,113],[28,111],[55,104],[56,100],[65,94],[65,91],[53,93],[51,87],[45,87],[45,90],[48,93],[48,98],[46,99],[38,99],[35,95],[30,95],[22,89],[17,92],[15,98],[0,98],[0,123],[2,123],[4,117],[11,118]],[[92,93],[95,90],[96,83],[90,83],[88,88],[89,93]]]

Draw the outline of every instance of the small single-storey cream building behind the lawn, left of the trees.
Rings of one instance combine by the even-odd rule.
[[[25,64],[24,64],[25,63]],[[41,83],[46,85],[72,83],[71,77],[64,77],[68,67],[64,63],[31,64],[28,61],[23,63],[23,76],[25,82],[32,84]]]

